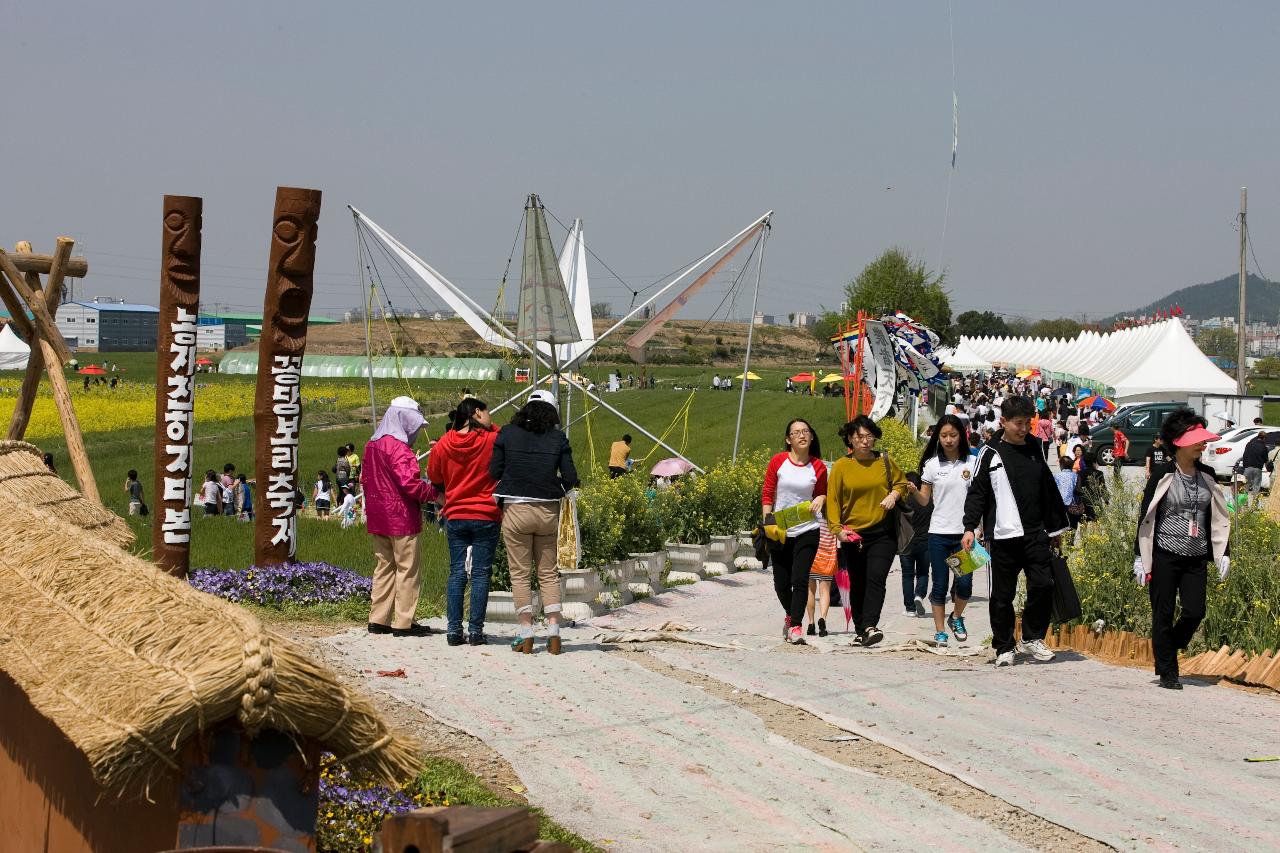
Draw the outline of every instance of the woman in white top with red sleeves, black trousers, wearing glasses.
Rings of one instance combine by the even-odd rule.
[[[822,503],[827,496],[827,466],[822,461],[818,433],[809,421],[799,418],[788,421],[782,441],[786,451],[771,459],[768,467],[764,469],[760,502],[764,524],[776,528],[783,526],[776,514],[785,517],[791,514],[782,514],[782,510],[809,505],[808,512],[788,520],[790,523],[785,525],[786,540],[782,548],[771,552],[773,590],[786,612],[782,622],[783,635],[788,643],[803,646],[804,611],[809,601],[809,569],[818,553],[818,526],[819,519],[823,517]],[[828,588],[823,590],[826,602],[822,612],[826,612],[826,603],[831,601],[829,584],[826,585]],[[819,620],[819,626],[826,633],[826,619]]]

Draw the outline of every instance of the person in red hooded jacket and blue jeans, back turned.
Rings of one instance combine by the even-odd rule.
[[[498,484],[489,476],[489,459],[498,430],[489,406],[467,397],[449,412],[449,432],[431,447],[426,479],[444,492],[444,533],[449,539],[449,583],[445,587],[449,646],[484,646],[484,616],[489,607],[493,552],[502,529],[502,510],[493,498]],[[462,635],[462,597],[467,589],[467,548],[471,549],[471,612]]]

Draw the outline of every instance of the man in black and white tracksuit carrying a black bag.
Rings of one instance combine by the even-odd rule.
[[[1041,442],[1030,435],[1036,405],[1006,397],[1001,430],[978,453],[964,505],[964,547],[972,548],[978,525],[991,551],[991,633],[996,666],[1014,663],[1014,596],[1018,573],[1027,573],[1023,642],[1018,651],[1038,661],[1053,660],[1044,633],[1053,610],[1051,548],[1070,528],[1066,510],[1044,462]]]

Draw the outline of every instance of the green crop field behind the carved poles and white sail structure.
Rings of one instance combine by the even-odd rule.
[[[155,375],[155,353],[101,353],[87,361],[109,360],[120,368],[120,375],[131,382],[152,382]],[[598,384],[604,384],[609,365],[591,368],[588,374]],[[621,366],[623,375],[635,370],[634,365]],[[760,380],[753,383],[746,394],[742,418],[741,450],[758,447],[781,447],[786,421],[791,418],[805,418],[817,429],[824,442],[828,459],[837,455],[840,442],[836,430],[844,423],[845,407],[842,398],[805,397],[782,391],[785,379],[795,370],[760,369]],[[604,398],[626,412],[637,423],[657,435],[666,435],[667,443],[687,455],[701,466],[709,466],[716,460],[728,456],[733,446],[733,425],[737,415],[739,392],[710,391],[713,369],[699,368],[659,368],[655,370],[658,388],[627,389],[603,394]],[[723,375],[723,373],[722,373]],[[223,374],[204,374],[201,382],[242,383],[251,386],[253,377]],[[306,393],[303,380],[303,394]],[[326,379],[325,382],[334,382]],[[366,380],[349,380],[361,388]],[[698,391],[692,387],[698,386]],[[411,393],[422,401],[430,414],[428,433],[439,437],[444,429],[445,411],[453,400],[462,393],[465,384],[449,380],[378,380],[375,389],[379,409],[396,394]],[[471,383],[470,389],[483,400],[497,406],[508,396],[522,388],[515,383]],[[102,392],[109,393],[109,392]],[[690,397],[692,397],[690,402]],[[689,405],[687,419],[677,414]],[[571,418],[582,415],[582,394],[573,393],[568,406]],[[513,409],[508,407],[495,415],[499,424],[509,420]],[[687,423],[686,423],[687,421]],[[303,414],[305,430],[301,441],[301,473],[303,482],[315,480],[319,470],[328,471],[333,465],[339,444],[355,443],[362,448],[372,432],[369,411],[323,412],[307,416]],[[639,430],[625,425],[621,419],[593,403],[591,414],[572,424],[570,437],[575,460],[584,478],[603,473],[608,462],[609,444],[625,432],[634,437],[632,455],[639,471],[646,471],[658,460],[669,453],[646,439]],[[252,474],[253,465],[253,420],[251,412],[220,420],[211,424],[196,423],[195,426],[195,470],[198,475],[206,469],[221,471],[225,462],[233,462],[237,470]],[[65,439],[61,437],[38,442],[42,450],[54,453],[59,474],[74,484],[74,476],[67,457]],[[143,484],[148,501],[151,500],[154,430],[120,429],[106,433],[87,433],[86,444],[93,473],[97,479],[102,501],[115,512],[127,517],[133,526],[138,552],[148,555],[151,542],[150,519],[125,515],[128,498],[124,491],[125,473],[136,469]],[[357,451],[360,452],[360,451]],[[310,485],[303,488],[310,496]],[[257,496],[256,496],[257,500]],[[362,574],[372,571],[374,558],[364,528],[343,530],[337,521],[321,521],[303,516],[298,526],[298,558],[302,561],[325,561],[347,566]],[[233,519],[197,517],[192,537],[193,567],[241,569],[252,562],[252,525],[237,523]],[[428,530],[422,537],[424,608],[439,612],[444,598],[444,578],[447,574],[447,548],[443,534]],[[339,617],[342,613],[334,612]],[[349,615],[347,615],[349,616]]]

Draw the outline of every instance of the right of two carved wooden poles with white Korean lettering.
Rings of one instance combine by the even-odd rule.
[[[302,353],[316,260],[320,191],[276,187],[257,347],[253,401],[257,514],[253,562],[269,566],[297,552],[298,435],[302,430]]]

